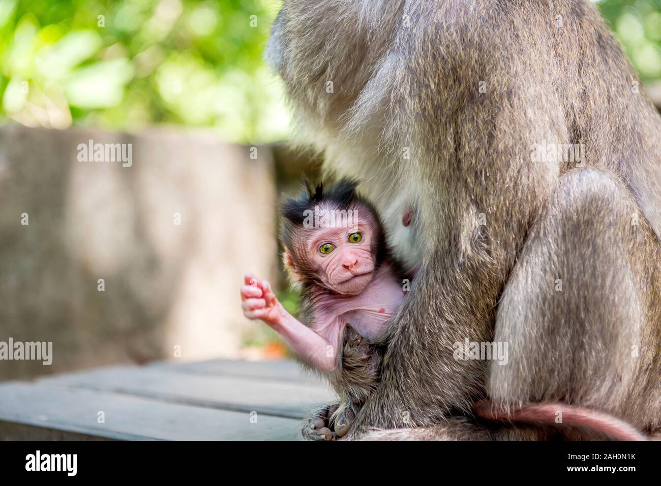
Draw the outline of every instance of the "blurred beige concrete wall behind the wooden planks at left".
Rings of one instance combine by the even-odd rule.
[[[131,143],[132,166],[79,161],[90,139]],[[177,345],[184,360],[235,357],[257,325],[239,307],[243,273],[277,269],[272,154],[249,153],[176,131],[2,127],[0,341],[53,341],[54,361],[0,361],[0,379]]]

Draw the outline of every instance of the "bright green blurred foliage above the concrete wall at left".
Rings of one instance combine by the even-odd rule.
[[[0,0],[1,114],[26,125],[286,134],[262,61],[274,0]]]

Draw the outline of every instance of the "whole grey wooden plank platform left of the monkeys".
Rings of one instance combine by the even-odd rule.
[[[332,398],[290,361],[113,366],[0,383],[0,439],[299,440]]]

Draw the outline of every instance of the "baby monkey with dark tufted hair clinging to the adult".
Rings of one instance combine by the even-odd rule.
[[[302,322],[278,302],[268,282],[246,275],[241,287],[245,316],[278,331],[303,362],[329,378],[340,397],[338,406],[305,432],[311,439],[348,432],[378,383],[383,349],[375,343],[406,295],[383,225],[356,193],[357,185],[347,179],[319,184],[280,207],[284,263],[301,291]]]

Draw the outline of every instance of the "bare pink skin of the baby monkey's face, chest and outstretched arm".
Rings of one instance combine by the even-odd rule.
[[[378,337],[405,295],[390,265],[384,263],[375,271],[369,225],[359,222],[358,227],[309,230],[306,256],[326,287],[313,291],[315,318],[310,327],[284,309],[268,282],[246,275],[241,287],[243,314],[268,324],[296,355],[323,372],[337,368],[337,351],[348,323],[364,337]],[[359,239],[356,236],[352,240],[355,234],[360,234],[359,241],[353,241]],[[321,251],[326,245],[332,246],[328,254]]]

